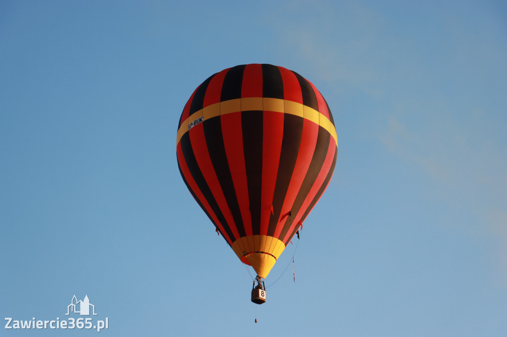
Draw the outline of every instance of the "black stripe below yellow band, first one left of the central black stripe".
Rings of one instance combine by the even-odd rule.
[[[234,182],[232,181],[231,170],[229,168],[229,162],[227,161],[227,154],[225,152],[220,116],[206,120],[203,123],[203,128],[209,157],[211,159],[211,163],[213,164],[216,177],[220,182],[220,187],[222,187],[222,191],[224,192],[227,206],[232,214],[232,218],[234,220],[233,225],[236,226],[240,237],[245,236],[241,210],[239,209],[238,198],[236,196],[236,190],[234,189]],[[227,210],[224,210],[224,212],[227,212]],[[222,224],[224,227],[227,226],[226,223]],[[231,236],[231,240],[234,240],[234,235]]]

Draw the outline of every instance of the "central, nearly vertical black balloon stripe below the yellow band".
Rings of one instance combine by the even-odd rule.
[[[263,111],[241,112],[252,233],[261,234]]]

